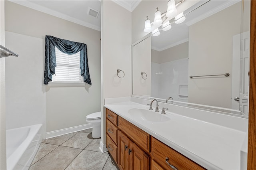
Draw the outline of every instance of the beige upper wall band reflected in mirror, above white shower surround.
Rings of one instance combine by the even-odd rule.
[[[170,47],[163,51],[156,51],[152,49],[152,62],[166,63],[177,59],[188,58],[188,42],[181,43],[174,47]]]

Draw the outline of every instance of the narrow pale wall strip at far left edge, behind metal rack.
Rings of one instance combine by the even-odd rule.
[[[0,1],[0,44],[5,45],[4,2]],[[6,169],[5,58],[0,58],[0,169]]]

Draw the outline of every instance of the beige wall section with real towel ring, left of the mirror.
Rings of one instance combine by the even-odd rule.
[[[101,108],[103,120],[101,144],[105,144],[104,99],[131,95],[132,13],[109,0],[101,1],[101,3]],[[124,78],[117,77],[117,69],[124,71]]]

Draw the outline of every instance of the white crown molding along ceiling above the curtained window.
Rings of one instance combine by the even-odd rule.
[[[82,26],[85,26],[85,27],[88,27],[88,28],[92,28],[92,29],[97,30],[97,31],[101,30],[99,26],[90,24],[88,22],[84,22],[82,20],[78,20],[76,18],[70,17],[70,16],[62,14],[60,12],[56,12],[56,11],[51,10],[49,8],[46,8],[44,6],[40,6],[38,4],[34,4],[34,3],[29,2],[27,0],[20,0],[20,1],[19,0],[10,0],[10,2],[14,2],[16,4],[19,4],[19,5],[22,5],[22,6],[26,6],[28,8],[32,8],[34,10],[38,10],[40,12],[44,12],[44,13],[52,15],[52,16],[56,16],[58,18],[61,18],[61,19],[64,19],[64,20],[67,20],[67,21],[70,21],[70,22],[74,22],[76,24],[79,24],[79,25],[82,25]]]

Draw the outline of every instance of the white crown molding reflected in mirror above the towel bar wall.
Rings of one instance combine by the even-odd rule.
[[[212,10],[206,12],[205,14],[203,14],[201,16],[198,16],[198,17],[194,18],[193,20],[191,20],[189,22],[186,22],[186,25],[191,26],[191,25],[193,25],[193,24],[195,24],[195,23],[197,23],[197,22],[199,22],[199,21],[201,21],[201,20],[203,20],[203,19],[205,19],[205,18],[207,18],[207,17],[209,17],[213,14],[216,14],[217,12],[220,12],[221,10],[224,10],[224,9],[226,9],[226,8],[232,6],[232,5],[234,5],[234,4],[236,4],[240,1],[241,0],[229,0],[228,2],[222,4],[222,6],[213,8]]]

